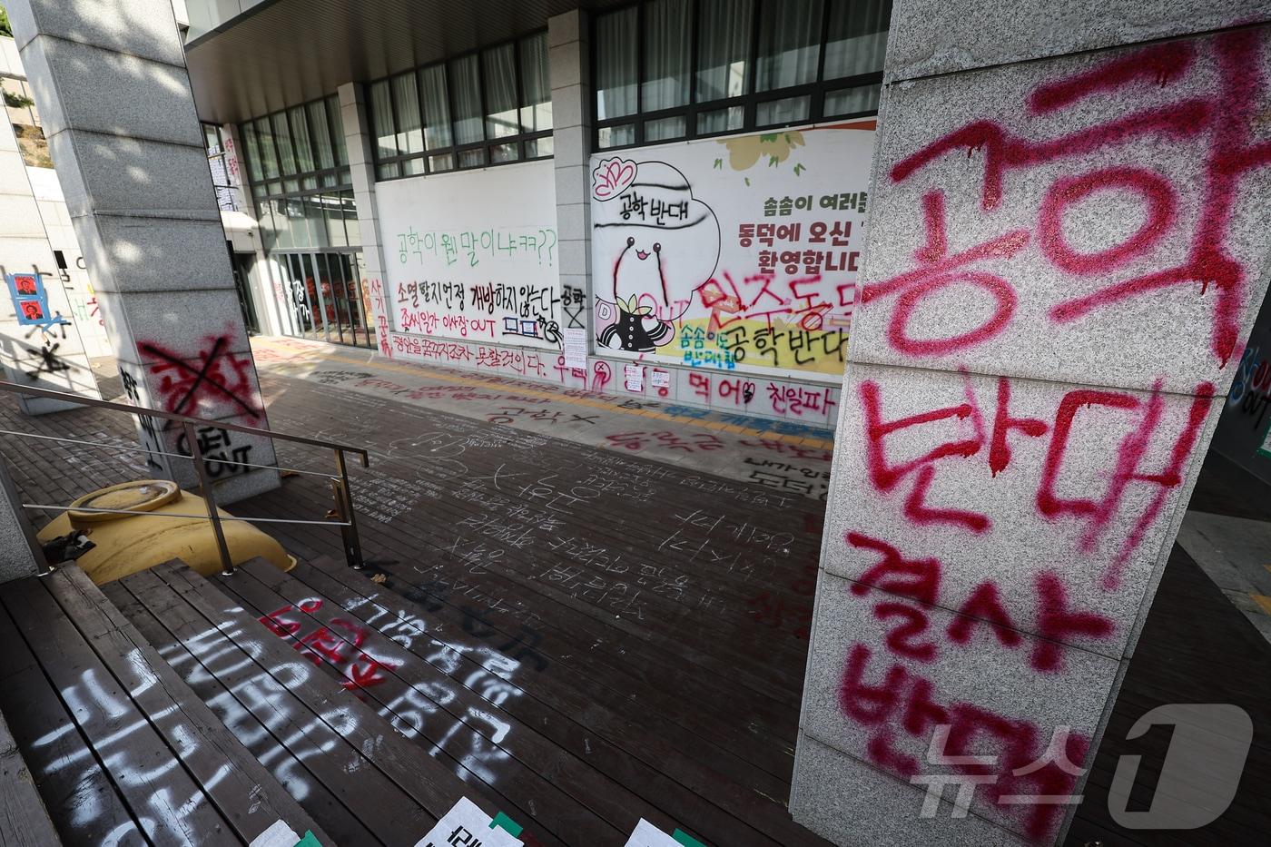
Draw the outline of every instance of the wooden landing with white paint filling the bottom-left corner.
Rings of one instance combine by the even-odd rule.
[[[330,843],[79,568],[0,586],[0,638],[28,788],[4,791],[0,843],[248,844],[278,820]]]

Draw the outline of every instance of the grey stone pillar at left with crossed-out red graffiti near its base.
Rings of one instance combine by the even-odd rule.
[[[6,4],[66,206],[132,402],[267,427],[172,4]],[[184,434],[141,418],[158,476],[196,483]],[[203,453],[275,464],[268,439],[215,426]],[[217,499],[278,485],[212,463]]]

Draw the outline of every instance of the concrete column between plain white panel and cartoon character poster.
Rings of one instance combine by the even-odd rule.
[[[574,9],[548,18],[548,74],[552,78],[552,137],[561,239],[561,326],[591,326],[591,206],[587,158],[591,155],[591,57],[587,13]],[[591,343],[591,332],[587,332]]]

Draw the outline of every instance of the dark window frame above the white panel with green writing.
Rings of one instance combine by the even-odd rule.
[[[416,100],[417,100],[417,104],[418,104],[418,108],[419,108],[419,118],[421,118],[422,126],[427,127],[428,123],[430,123],[430,117],[428,117],[428,111],[425,108],[423,85],[422,85],[422,80],[419,79],[419,75],[425,70],[428,70],[428,69],[432,69],[432,67],[437,67],[440,65],[445,70],[445,76],[446,76],[446,103],[447,103],[447,111],[449,111],[449,116],[447,117],[449,117],[449,125],[450,125],[450,144],[447,146],[444,146],[444,148],[430,148],[428,146],[428,141],[427,141],[427,134],[425,134],[423,150],[419,151],[419,153],[398,153],[397,155],[393,155],[393,156],[380,156],[379,155],[379,149],[376,148],[374,150],[374,153],[375,153],[375,155],[374,155],[375,181],[376,182],[388,182],[390,179],[408,179],[411,177],[422,177],[422,176],[435,174],[435,173],[452,173],[455,170],[477,170],[479,168],[497,168],[500,165],[506,165],[506,164],[520,164],[522,162],[536,162],[539,159],[550,159],[553,156],[554,151],[553,153],[545,153],[545,154],[540,153],[539,155],[534,155],[534,156],[526,155],[526,153],[527,153],[527,149],[529,149],[527,145],[530,142],[538,142],[540,139],[552,137],[552,134],[553,134],[554,126],[555,126],[554,116],[553,116],[553,128],[549,128],[549,130],[535,130],[533,132],[526,132],[524,123],[521,123],[521,111],[525,109],[527,106],[530,106],[530,104],[525,103],[525,81],[522,79],[524,74],[521,72],[521,43],[525,42],[525,41],[527,41],[527,39],[530,39],[530,38],[536,38],[536,37],[545,38],[547,37],[547,29],[535,29],[533,32],[527,32],[525,34],[517,36],[516,38],[512,38],[512,39],[508,39],[508,41],[501,41],[498,43],[487,45],[484,47],[478,47],[475,50],[468,50],[468,51],[464,51],[461,53],[455,53],[454,56],[447,56],[446,59],[444,59],[441,61],[428,62],[426,65],[418,65],[416,67],[412,67],[408,71],[402,71],[399,74],[391,74],[389,76],[383,76],[383,78],[367,81],[366,83],[367,90],[370,90],[371,85],[375,85],[377,83],[383,83],[383,81],[388,81],[389,83],[389,111],[391,113],[393,132],[394,132],[394,136],[395,136],[395,135],[399,134],[400,127],[399,127],[399,121],[398,121],[397,98],[393,97],[393,84],[391,84],[390,80],[400,76],[402,74],[414,74],[416,75],[416,86],[414,86],[414,89],[416,89]],[[516,100],[517,100],[517,104],[516,104],[516,120],[517,120],[517,128],[520,130],[520,132],[517,132],[515,135],[505,135],[505,136],[500,136],[500,137],[489,137],[488,127],[486,125],[486,122],[489,118],[489,104],[488,104],[487,97],[486,97],[486,62],[484,62],[483,53],[486,51],[488,51],[488,50],[500,50],[500,48],[503,48],[503,47],[507,47],[507,46],[512,47],[512,74],[513,74],[513,78],[515,78]],[[455,99],[454,99],[454,81],[452,81],[452,74],[450,72],[450,67],[451,67],[451,65],[454,62],[459,62],[459,61],[464,61],[464,60],[469,60],[469,59],[474,59],[475,60],[477,92],[479,94],[479,102],[480,102],[480,116],[479,117],[480,117],[482,140],[480,141],[470,141],[468,144],[458,144],[456,140],[459,137],[459,134],[458,134],[456,127],[455,127],[455,123],[456,123],[455,113],[456,112],[455,112]],[[549,86],[548,92],[549,92],[549,98],[550,98],[550,86]],[[550,102],[550,99],[549,99],[549,102]],[[371,98],[367,98],[366,109],[367,109],[367,125],[374,126],[374,123],[375,123],[375,116],[374,116],[374,104],[371,102]],[[516,145],[516,158],[515,159],[508,159],[508,160],[502,160],[502,162],[496,162],[493,159],[493,155],[492,155],[493,150],[496,148],[502,148],[502,146],[506,146],[508,144],[515,144]],[[463,164],[464,154],[474,153],[474,151],[480,151],[482,153],[480,162],[477,163],[477,164],[468,164],[468,165]],[[446,156],[446,155],[450,156],[451,167],[433,169],[433,167],[432,167],[432,159],[435,156]],[[416,173],[409,173],[409,174],[408,173],[403,173],[403,170],[405,169],[404,168],[405,163],[407,162],[412,162],[412,160],[419,160],[421,162],[421,165],[422,165],[421,170],[418,170]],[[385,173],[393,165],[397,165],[397,174]]]

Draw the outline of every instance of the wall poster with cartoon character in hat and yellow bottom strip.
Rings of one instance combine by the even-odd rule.
[[[840,378],[874,127],[592,155],[597,352]]]

